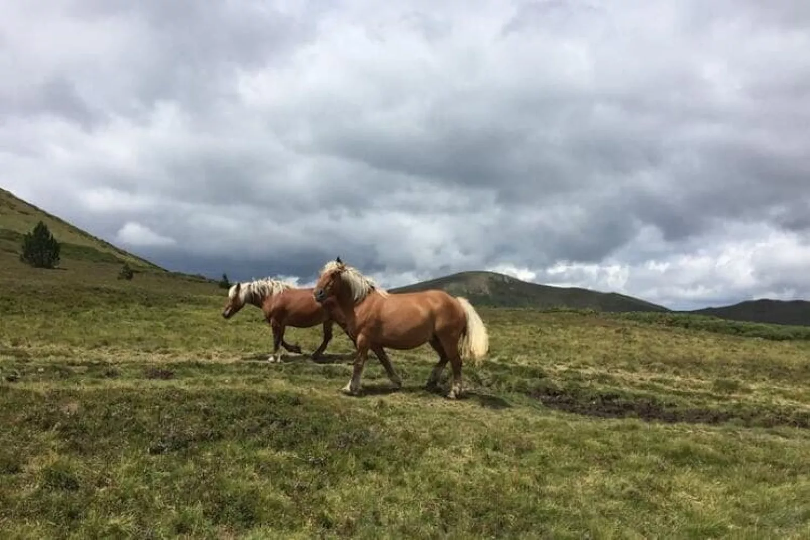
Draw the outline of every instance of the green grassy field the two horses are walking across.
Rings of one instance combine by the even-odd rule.
[[[63,266],[0,253],[0,538],[810,537],[802,336],[486,308],[467,399],[428,347],[348,398],[343,334],[267,364],[214,285]]]

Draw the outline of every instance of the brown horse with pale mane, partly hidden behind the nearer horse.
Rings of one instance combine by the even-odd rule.
[[[313,298],[313,289],[299,289],[292,283],[280,279],[254,279],[246,283],[236,283],[228,291],[228,301],[222,316],[229,319],[236,315],[245,304],[260,308],[265,321],[273,329],[273,354],[267,357],[268,362],[281,362],[279,346],[287,351],[301,354],[301,347],[284,341],[284,330],[293,328],[311,328],[323,325],[323,341],[313,353],[318,359],[332,339],[333,321],[330,314]]]

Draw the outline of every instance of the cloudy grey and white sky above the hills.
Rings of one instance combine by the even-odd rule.
[[[171,270],[810,299],[806,0],[0,0],[0,186]]]

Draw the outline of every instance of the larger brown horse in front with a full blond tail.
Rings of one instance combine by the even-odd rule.
[[[369,349],[380,359],[391,382],[400,388],[402,380],[383,347],[406,350],[430,343],[439,361],[426,386],[435,388],[441,371],[450,362],[450,399],[463,393],[462,357],[477,363],[489,349],[486,326],[466,299],[441,290],[391,294],[352,266],[344,265],[340,257],[323,267],[313,296],[355,342],[357,357],[352,380],[343,387],[349,395],[360,389]]]

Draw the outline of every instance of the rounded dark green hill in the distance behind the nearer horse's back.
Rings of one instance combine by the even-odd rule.
[[[669,311],[663,306],[616,292],[590,291],[578,287],[549,287],[494,272],[460,272],[391,289],[391,292],[415,292],[433,288],[443,289],[457,296],[466,296],[473,304],[485,306],[565,307],[595,309],[604,313]]]

